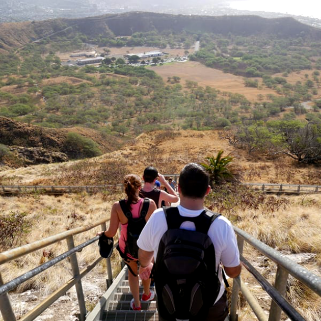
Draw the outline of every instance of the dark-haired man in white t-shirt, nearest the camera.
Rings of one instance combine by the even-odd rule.
[[[204,168],[195,163],[186,165],[180,173],[178,183],[180,216],[199,216],[204,210],[204,198],[209,192],[209,176]],[[180,228],[195,230],[195,224],[191,221],[184,221]],[[153,266],[152,259],[154,257],[156,260],[159,242],[166,231],[167,222],[164,211],[158,208],[146,223],[137,242],[140,248],[139,275],[143,280],[150,276]],[[225,217],[219,216],[214,220],[207,234],[215,248],[216,271],[219,273],[221,289],[215,305],[209,310],[206,321],[223,321],[228,314],[228,307],[221,264],[230,278],[236,278],[241,271],[239,252],[233,227]]]

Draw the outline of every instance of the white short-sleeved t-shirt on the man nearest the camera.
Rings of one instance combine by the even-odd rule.
[[[179,213],[183,217],[196,217],[199,216],[203,211],[200,210],[190,210],[177,206]],[[185,221],[181,224],[180,228],[186,230],[194,230],[195,224],[191,221]],[[167,222],[163,208],[156,209],[150,219],[147,221],[144,229],[142,230],[137,245],[144,251],[154,252],[154,258],[156,261],[157,251],[159,242],[163,234],[167,231]],[[218,271],[219,264],[222,262],[227,268],[233,268],[239,265],[239,252],[237,248],[237,242],[232,224],[228,219],[223,216],[219,216],[211,224],[208,230],[208,236],[212,240],[215,248],[215,261],[216,270]],[[221,281],[221,289],[216,302],[221,298],[224,293],[224,282],[222,277],[222,270],[219,269],[219,279]]]

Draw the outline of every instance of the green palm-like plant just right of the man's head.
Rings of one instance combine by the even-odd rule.
[[[234,157],[223,156],[223,150],[220,150],[217,156],[206,157],[208,163],[202,163],[201,165],[209,173],[210,184],[220,184],[224,182],[236,182],[239,175],[235,172],[235,169],[231,167],[231,162]]]

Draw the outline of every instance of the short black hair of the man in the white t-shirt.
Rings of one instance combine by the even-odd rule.
[[[209,175],[204,167],[189,163],[179,174],[179,186],[183,196],[203,198],[209,185]]]

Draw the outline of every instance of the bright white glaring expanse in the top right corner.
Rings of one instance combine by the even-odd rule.
[[[229,3],[231,8],[239,10],[281,12],[321,19],[319,0],[239,0]]]

